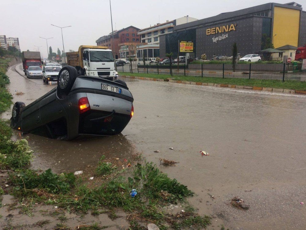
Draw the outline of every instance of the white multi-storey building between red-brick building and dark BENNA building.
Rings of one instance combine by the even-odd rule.
[[[136,47],[138,61],[143,61],[143,57],[145,61],[148,61],[152,57],[159,57],[159,35],[172,33],[175,25],[181,25],[196,20],[198,19],[184,16],[173,21],[167,20],[164,23],[157,23],[156,25],[140,29],[137,34],[140,36],[141,42],[147,44],[138,45]]]

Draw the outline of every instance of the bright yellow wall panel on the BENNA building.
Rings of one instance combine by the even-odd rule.
[[[297,46],[299,39],[300,10],[274,6],[273,44],[274,47],[284,45]]]

